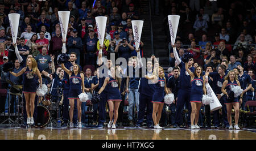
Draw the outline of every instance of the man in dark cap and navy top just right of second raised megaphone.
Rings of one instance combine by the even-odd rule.
[[[82,49],[82,40],[77,37],[77,30],[71,31],[71,37],[68,38],[68,53],[75,52],[77,54],[77,64],[80,64],[80,54]]]

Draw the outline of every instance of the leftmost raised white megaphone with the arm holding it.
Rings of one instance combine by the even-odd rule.
[[[11,37],[13,37],[13,43],[16,43],[18,37],[18,28],[19,28],[19,18],[20,15],[17,13],[11,13],[8,15],[10,28],[11,28]],[[18,58],[19,63],[23,61],[22,57],[19,54],[17,45],[14,46],[16,57]]]

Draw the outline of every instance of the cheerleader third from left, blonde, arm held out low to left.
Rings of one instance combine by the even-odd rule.
[[[120,86],[121,86],[121,77],[115,76],[115,73],[120,72],[118,67],[111,67],[110,68],[110,77],[106,77],[104,80],[104,84],[102,85],[101,89],[98,91],[98,94],[107,87],[108,89],[108,104],[109,104],[109,124],[108,128],[115,128],[115,123],[117,122],[118,118],[118,108],[120,105],[121,93],[120,93]],[[113,121],[113,110],[114,110],[114,121]]]

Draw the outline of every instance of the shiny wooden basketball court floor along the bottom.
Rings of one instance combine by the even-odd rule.
[[[241,130],[188,128],[0,128],[0,140],[256,140],[255,128]]]

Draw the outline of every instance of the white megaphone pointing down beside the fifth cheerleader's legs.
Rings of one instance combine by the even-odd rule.
[[[212,97],[213,101],[210,102],[210,111],[216,111],[222,107],[220,101],[218,101],[218,98],[216,94],[213,92],[212,88],[210,87],[209,83],[205,84],[205,89],[207,90],[207,95]]]

